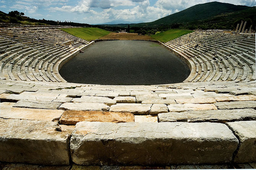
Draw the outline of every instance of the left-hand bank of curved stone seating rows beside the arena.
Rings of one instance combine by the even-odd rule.
[[[62,81],[55,64],[89,44],[59,29],[1,30],[0,38],[0,78],[23,81]]]

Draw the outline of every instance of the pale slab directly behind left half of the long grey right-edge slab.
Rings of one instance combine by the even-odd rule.
[[[217,110],[214,104],[171,104],[167,106],[169,112],[184,112],[190,110]]]

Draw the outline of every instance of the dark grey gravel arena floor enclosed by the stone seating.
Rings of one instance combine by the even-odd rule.
[[[97,42],[60,69],[68,82],[102,85],[152,85],[184,81],[190,69],[154,42]]]

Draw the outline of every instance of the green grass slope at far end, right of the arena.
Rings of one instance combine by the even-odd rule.
[[[170,29],[168,31],[160,32],[158,34],[154,34],[151,37],[155,40],[159,40],[161,42],[167,42],[183,36],[185,34],[191,33],[191,30],[180,30],[180,29]]]

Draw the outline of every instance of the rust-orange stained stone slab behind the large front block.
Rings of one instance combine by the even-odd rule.
[[[76,125],[79,121],[123,123],[134,121],[134,115],[128,112],[67,110],[60,117],[60,123],[65,125]]]

